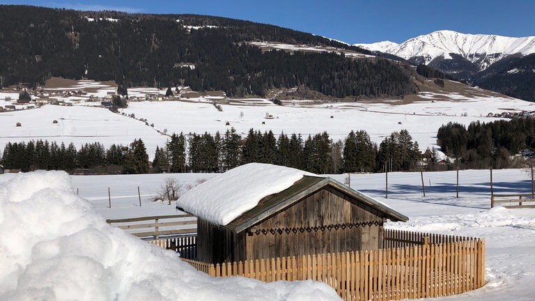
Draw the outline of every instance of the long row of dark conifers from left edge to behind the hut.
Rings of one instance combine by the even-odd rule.
[[[249,130],[246,137],[234,128],[224,134],[172,134],[157,146],[152,164],[141,139],[129,146],[57,144],[47,140],[8,143],[3,150],[6,169],[33,171],[91,169],[94,173],[224,172],[242,164],[277,164],[313,173],[409,171],[421,155],[407,130],[392,132],[378,146],[364,130],[351,131],[344,141],[333,141],[327,132],[309,135]]]

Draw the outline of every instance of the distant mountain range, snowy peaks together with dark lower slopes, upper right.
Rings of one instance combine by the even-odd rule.
[[[427,65],[451,77],[535,102],[535,36],[520,38],[434,31],[403,43],[355,44],[382,56]]]

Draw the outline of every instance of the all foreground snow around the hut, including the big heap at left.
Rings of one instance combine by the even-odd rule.
[[[329,288],[309,281],[261,284],[240,278],[209,279],[180,263],[173,252],[150,246],[104,222],[104,217],[177,214],[174,204],[150,201],[164,179],[196,183],[199,178],[213,176],[216,175],[177,173],[69,177],[61,172],[0,176],[0,261],[2,266],[10,267],[0,272],[0,299],[53,294],[61,299],[58,296],[81,293],[91,297],[86,300],[144,299],[134,295],[154,300],[211,300],[215,294],[222,294],[225,300],[336,298]],[[330,176],[342,183],[347,178],[347,174]],[[525,170],[495,170],[493,176],[495,193],[531,192],[531,180]],[[535,209],[490,209],[489,171],[460,171],[459,198],[455,171],[424,173],[425,197],[419,173],[389,173],[388,199],[384,173],[352,174],[350,183],[353,189],[410,217],[406,223],[387,223],[389,229],[486,240],[486,286],[442,299],[533,300],[535,289],[530,284],[535,283]],[[111,189],[112,208],[107,208],[107,187]],[[72,276],[65,279],[65,273]],[[269,293],[265,291],[270,289]]]

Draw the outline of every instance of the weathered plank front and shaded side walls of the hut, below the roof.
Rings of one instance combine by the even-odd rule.
[[[197,257],[223,263],[380,249],[383,221],[382,213],[327,186],[240,233],[198,219]]]

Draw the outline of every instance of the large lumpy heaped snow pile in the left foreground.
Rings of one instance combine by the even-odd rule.
[[[313,281],[212,278],[109,227],[67,173],[0,183],[0,300],[336,300]]]

